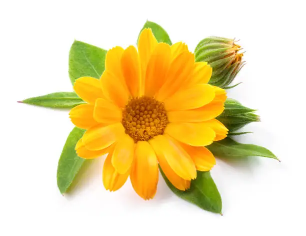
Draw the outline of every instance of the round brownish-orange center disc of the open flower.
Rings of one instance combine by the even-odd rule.
[[[163,103],[154,98],[139,97],[131,99],[122,113],[122,125],[134,142],[147,141],[163,134],[168,124]]]

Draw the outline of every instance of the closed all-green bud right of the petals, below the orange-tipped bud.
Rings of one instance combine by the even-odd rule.
[[[238,101],[227,99],[224,103],[224,111],[216,119],[222,122],[230,133],[243,126],[260,121],[259,116],[254,114],[255,110],[242,106]]]

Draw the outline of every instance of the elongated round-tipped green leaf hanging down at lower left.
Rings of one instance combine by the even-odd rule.
[[[84,132],[85,130],[74,127],[62,149],[57,166],[57,186],[61,194],[68,190],[85,161],[85,159],[78,157],[74,150],[77,141]]]

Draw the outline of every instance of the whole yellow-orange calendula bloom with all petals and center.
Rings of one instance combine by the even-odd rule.
[[[157,43],[150,29],[130,46],[109,50],[99,80],[82,77],[74,91],[87,104],[74,107],[72,123],[86,129],[75,150],[82,158],[107,154],[103,184],[119,189],[130,177],[144,199],[155,195],[158,164],[169,181],[185,190],[196,170],[208,171],[214,156],[205,148],[226,137],[214,119],[226,93],[207,84],[211,68],[194,62],[185,44]]]

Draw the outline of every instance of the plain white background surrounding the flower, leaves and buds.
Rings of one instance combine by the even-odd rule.
[[[0,235],[305,235],[304,1],[1,1]],[[103,158],[60,195],[56,167],[72,129],[67,111],[16,103],[71,91],[73,40],[109,49],[135,44],[146,20],[191,51],[208,36],[240,39],[247,65],[228,97],[257,108],[238,141],[281,160],[217,160],[223,216],[185,202],[162,178],[153,200],[130,182],[103,188]]]

